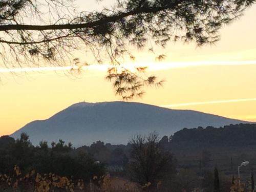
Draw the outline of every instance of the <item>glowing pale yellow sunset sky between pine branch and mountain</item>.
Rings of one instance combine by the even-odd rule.
[[[99,6],[93,0],[86,2],[78,4],[83,9]],[[256,121],[255,16],[256,5],[225,26],[215,46],[170,42],[166,49],[156,50],[167,56],[162,62],[147,50],[134,48],[136,64],[150,66],[147,73],[165,82],[162,88],[146,87],[146,94],[132,101]],[[104,78],[104,67],[85,68],[76,76],[55,68],[15,74],[8,70],[0,69],[0,136],[33,120],[47,119],[73,103],[120,100]]]

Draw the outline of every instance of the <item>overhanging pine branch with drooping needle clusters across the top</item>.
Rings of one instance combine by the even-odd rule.
[[[155,76],[120,67],[122,59],[134,59],[130,45],[144,48],[150,41],[148,49],[154,52],[154,45],[165,47],[171,40],[194,41],[198,46],[213,44],[219,40],[219,29],[241,16],[255,0],[117,0],[112,9],[93,12],[73,11],[73,2],[1,1],[3,65],[31,67],[48,62],[64,66],[69,58],[79,70],[87,63],[72,58],[72,51],[87,50],[99,63],[106,59],[113,63],[108,79],[114,81],[117,94],[129,99],[140,96],[145,84],[161,84]],[[46,8],[49,10],[44,11]],[[161,54],[156,59],[164,57]]]

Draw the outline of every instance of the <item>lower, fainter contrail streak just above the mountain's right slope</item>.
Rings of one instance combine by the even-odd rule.
[[[167,105],[161,105],[161,106],[163,108],[177,108],[177,107],[180,107],[180,106],[203,105],[203,104],[219,104],[219,103],[232,103],[232,102],[246,102],[246,101],[256,101],[256,98],[217,100],[217,101],[204,101],[204,102],[190,102],[190,103],[176,103],[176,104],[167,104]]]

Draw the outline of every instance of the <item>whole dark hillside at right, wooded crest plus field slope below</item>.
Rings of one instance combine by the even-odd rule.
[[[193,168],[198,173],[218,166],[221,172],[232,176],[244,161],[250,164],[243,167],[247,172],[243,177],[256,169],[256,124],[183,129],[163,145],[174,154],[180,168]]]

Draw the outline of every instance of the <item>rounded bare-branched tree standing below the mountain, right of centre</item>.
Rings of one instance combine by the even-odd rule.
[[[154,187],[161,178],[174,173],[172,155],[163,150],[158,134],[151,133],[147,137],[137,135],[130,143],[133,180],[141,184],[151,183]]]

